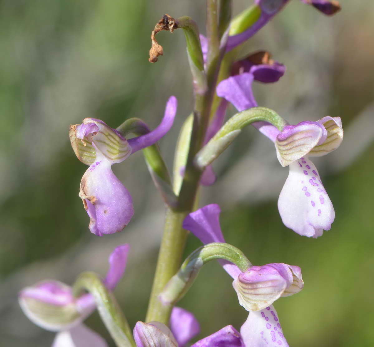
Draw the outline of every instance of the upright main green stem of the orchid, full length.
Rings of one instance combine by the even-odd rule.
[[[193,112],[193,125],[188,148],[186,170],[178,197],[177,211],[167,209],[165,228],[157,260],[150,303],[146,321],[157,320],[168,325],[172,306],[163,305],[159,294],[169,279],[178,271],[181,257],[186,243],[187,231],[183,230],[182,223],[186,215],[192,211],[199,187],[202,172],[195,168],[193,160],[196,153],[202,148],[212,99],[215,92],[218,71],[220,67],[220,47],[218,39],[217,0],[207,0],[207,28],[209,43],[208,64],[206,78],[208,88],[195,90],[195,107]]]

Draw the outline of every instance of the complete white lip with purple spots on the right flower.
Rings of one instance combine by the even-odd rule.
[[[289,165],[278,209],[283,224],[300,235],[318,237],[330,230],[334,207],[309,158],[302,157]]]

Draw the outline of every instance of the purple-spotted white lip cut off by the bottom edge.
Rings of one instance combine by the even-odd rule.
[[[289,347],[273,305],[250,312],[240,328],[240,335],[245,347]]]

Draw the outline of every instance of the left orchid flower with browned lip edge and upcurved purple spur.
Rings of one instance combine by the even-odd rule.
[[[81,162],[89,165],[80,182],[79,196],[90,217],[89,229],[93,234],[113,234],[129,223],[134,214],[132,197],[111,166],[162,138],[171,128],[176,111],[177,99],[171,96],[160,125],[129,140],[99,119],[86,118],[82,124],[70,126],[73,150]]]

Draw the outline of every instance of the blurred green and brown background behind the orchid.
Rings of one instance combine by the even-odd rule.
[[[233,2],[234,13],[248,6]],[[204,3],[0,1],[0,346],[50,346],[54,333],[23,315],[17,292],[45,278],[71,284],[83,270],[104,275],[107,257],[120,243],[132,248],[115,294],[131,326],[144,320],[162,200],[141,153],[131,156],[114,171],[132,193],[134,218],[122,233],[91,234],[78,197],[86,168],[74,156],[67,130],[85,117],[114,128],[141,117],[155,127],[175,95],[177,120],[160,141],[171,167],[178,129],[193,105],[190,72],[183,33],[159,34],[164,56],[150,64],[150,32],[169,13],[191,16],[204,33]],[[341,117],[343,144],[313,160],[334,203],[331,230],[314,240],[283,226],[276,201],[288,169],[255,129],[246,129],[217,160],[218,181],[202,190],[202,204],[222,206],[227,242],[252,263],[302,268],[303,291],[275,304],[294,347],[374,345],[374,4],[341,4],[343,10],[328,18],[292,0],[242,52],[266,49],[287,66],[278,83],[254,86],[259,105],[291,123]],[[186,255],[199,245],[190,237]],[[200,320],[199,338],[227,324],[239,329],[247,315],[217,263],[203,268],[180,305]],[[86,323],[110,341],[97,313]]]

